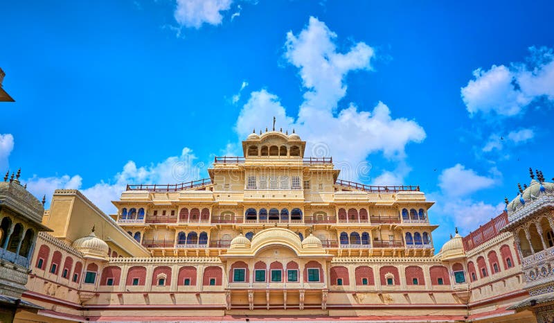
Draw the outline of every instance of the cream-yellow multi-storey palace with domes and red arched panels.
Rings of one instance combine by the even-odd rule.
[[[110,215],[55,191],[16,321],[551,322],[554,184],[436,252],[419,186],[340,180],[305,146],[252,133],[207,179],[127,185]]]

